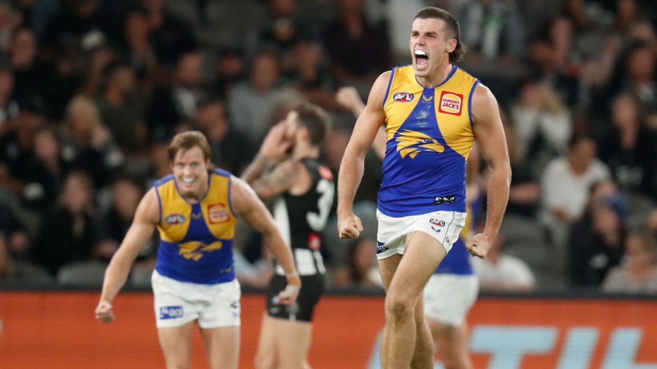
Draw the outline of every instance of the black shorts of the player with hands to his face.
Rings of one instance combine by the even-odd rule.
[[[277,296],[287,285],[285,276],[274,274],[267,287],[267,313],[275,318],[301,320],[310,322],[313,319],[315,305],[324,292],[324,275],[301,276],[301,290],[294,305],[279,305]]]

